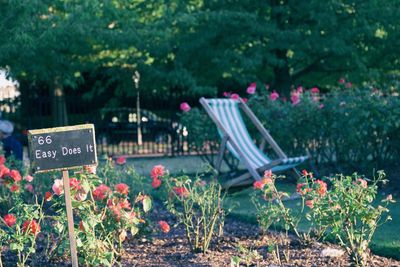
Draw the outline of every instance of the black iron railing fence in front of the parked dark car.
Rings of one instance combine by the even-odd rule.
[[[188,142],[190,133],[176,115],[171,115],[174,114],[171,111],[155,113],[143,109],[140,117],[141,140],[138,140],[139,116],[135,108],[85,110],[82,105],[77,105],[75,97],[67,97],[65,103],[68,112],[66,125],[95,125],[99,156],[178,156],[216,152],[214,146],[207,144],[202,148],[192,146]],[[15,136],[27,145],[27,130],[56,126],[52,116],[52,105],[55,104],[50,97],[29,102],[21,102],[21,99],[0,101],[0,107],[3,107],[1,116],[14,122]],[[160,113],[163,116],[158,115]]]

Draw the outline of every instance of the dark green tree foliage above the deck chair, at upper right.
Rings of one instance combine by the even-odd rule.
[[[152,66],[164,85],[195,95],[252,81],[288,95],[292,85],[343,75],[380,78],[399,68],[398,8],[395,0],[174,1],[153,24],[168,27],[150,48]]]

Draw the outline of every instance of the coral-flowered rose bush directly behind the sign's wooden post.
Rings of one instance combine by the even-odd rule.
[[[151,208],[150,198],[139,194],[131,201],[128,185],[118,183],[109,187],[90,171],[75,173],[70,178],[70,187],[75,220],[79,222],[75,228],[78,253],[87,265],[113,265],[123,254],[122,243],[128,232],[135,236],[146,228],[143,213]],[[55,180],[52,189],[54,195],[49,201],[59,213],[55,235],[62,237],[66,216],[59,209],[64,201],[59,180]]]

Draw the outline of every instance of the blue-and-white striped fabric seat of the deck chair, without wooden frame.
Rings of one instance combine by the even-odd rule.
[[[257,169],[271,163],[271,159],[254,144],[254,141],[250,137],[239,111],[239,101],[234,99],[207,99],[207,103],[215,117],[226,130],[230,141],[233,140],[237,144],[252,168]],[[220,130],[219,133],[222,136]],[[227,143],[227,148],[236,158],[241,160],[230,141]],[[275,166],[271,170],[283,171],[291,169],[307,160],[307,158],[307,156],[285,158],[281,165]]]

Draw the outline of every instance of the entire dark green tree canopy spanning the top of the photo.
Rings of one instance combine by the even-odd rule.
[[[89,98],[134,96],[135,70],[144,94],[194,98],[250,82],[284,94],[361,84],[400,64],[397,0],[0,3],[0,66],[49,88],[94,80]]]

